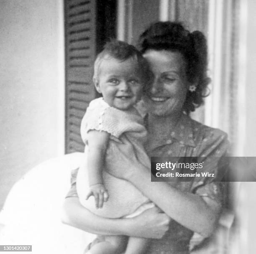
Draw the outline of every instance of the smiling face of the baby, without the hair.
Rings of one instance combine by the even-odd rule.
[[[130,109],[141,99],[143,88],[142,74],[137,61],[133,58],[125,61],[115,58],[102,60],[95,86],[111,107],[120,110]]]

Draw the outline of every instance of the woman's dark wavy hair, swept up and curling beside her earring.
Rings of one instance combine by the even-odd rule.
[[[156,22],[143,32],[138,40],[141,53],[147,50],[169,50],[182,53],[187,62],[187,79],[196,85],[196,90],[187,92],[183,110],[187,114],[203,104],[207,85],[207,41],[200,31],[190,33],[178,22]]]

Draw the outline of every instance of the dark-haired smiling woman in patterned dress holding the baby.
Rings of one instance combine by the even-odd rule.
[[[154,82],[143,99],[148,109],[146,150],[150,156],[203,156],[207,172],[218,169],[219,158],[228,147],[224,132],[202,125],[189,117],[203,102],[209,83],[207,45],[201,32],[189,33],[179,23],[157,22],[139,39],[139,48],[147,59]],[[148,254],[186,254],[193,232],[209,236],[221,211],[222,190],[218,183],[151,182],[148,168],[133,155],[130,144],[120,146],[123,161],[116,177],[135,185],[158,208],[133,218],[98,217],[83,208],[75,187],[64,203],[64,222],[100,235],[128,235],[152,238]],[[215,156],[218,156],[216,159]],[[98,238],[96,241],[101,241]]]

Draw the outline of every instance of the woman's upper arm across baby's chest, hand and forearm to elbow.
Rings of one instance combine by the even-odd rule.
[[[119,149],[118,160],[112,157],[107,163],[108,168],[114,170],[111,167],[113,163],[118,170],[110,173],[133,183],[179,224],[202,236],[209,236],[212,233],[221,211],[219,203],[207,197],[183,192],[166,182],[151,182],[150,169],[137,160],[129,142],[124,141],[124,144],[118,145],[117,149]],[[119,167],[118,161],[122,162]]]

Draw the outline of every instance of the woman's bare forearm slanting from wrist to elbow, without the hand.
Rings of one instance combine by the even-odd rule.
[[[202,236],[209,236],[215,229],[221,206],[212,199],[183,192],[166,182],[151,182],[144,166],[128,180],[179,224]]]

